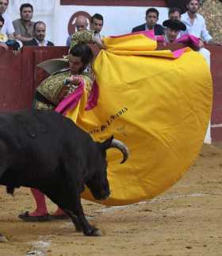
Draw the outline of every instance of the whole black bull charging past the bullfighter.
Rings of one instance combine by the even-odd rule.
[[[94,142],[69,118],[54,111],[0,114],[0,184],[13,193],[20,186],[37,188],[69,215],[77,231],[100,235],[82,210],[80,194],[90,188],[97,200],[109,196],[106,149],[128,149],[109,138]]]

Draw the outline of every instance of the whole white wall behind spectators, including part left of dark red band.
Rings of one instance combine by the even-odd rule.
[[[90,15],[99,13],[104,17],[102,33],[106,36],[128,33],[131,29],[145,22],[148,7],[128,6],[60,6],[59,0],[10,0],[8,12],[12,19],[20,17],[19,7],[29,2],[34,7],[33,21],[44,21],[47,25],[47,39],[55,45],[65,45],[68,37],[67,24],[73,14],[86,11]],[[167,18],[167,8],[159,10],[159,23]]]

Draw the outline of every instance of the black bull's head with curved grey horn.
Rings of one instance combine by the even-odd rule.
[[[106,150],[110,148],[116,148],[123,153],[123,160],[121,164],[128,159],[128,148],[123,142],[120,142],[113,138],[108,138],[105,142],[98,143],[98,154],[95,161],[94,176],[86,182],[88,188],[92,192],[96,200],[105,200],[109,197],[109,181],[107,179],[107,161]]]

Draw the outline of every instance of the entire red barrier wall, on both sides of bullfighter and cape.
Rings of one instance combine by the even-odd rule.
[[[214,87],[211,135],[212,142],[219,142],[222,141],[222,47],[208,48]],[[67,47],[26,47],[18,56],[0,50],[0,111],[31,107],[36,86],[48,76],[36,64],[66,54]]]

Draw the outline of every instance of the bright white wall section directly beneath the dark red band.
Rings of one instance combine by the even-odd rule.
[[[77,11],[84,10],[90,15],[99,13],[104,17],[104,26],[102,33],[105,35],[119,35],[122,33],[131,32],[132,28],[136,25],[144,23],[145,12],[147,7],[125,7],[125,6],[56,6],[56,16],[58,18],[54,21],[54,27],[63,34],[59,34],[56,38],[58,45],[63,45],[68,36],[67,23],[72,14]],[[158,8],[159,22],[162,23],[167,17],[167,8]],[[61,22],[63,21],[63,22]],[[54,32],[55,34],[55,32]],[[55,37],[54,37],[55,38]]]

